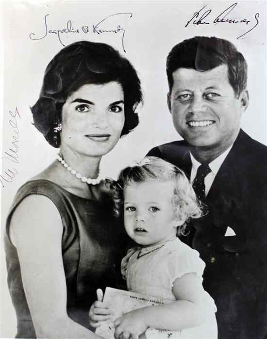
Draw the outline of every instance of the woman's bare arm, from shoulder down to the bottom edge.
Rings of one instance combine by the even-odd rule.
[[[29,195],[10,224],[37,338],[100,338],[67,316],[62,221],[52,201]]]

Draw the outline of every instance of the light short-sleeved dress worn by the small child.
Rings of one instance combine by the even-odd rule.
[[[147,294],[175,301],[172,293],[173,282],[187,273],[195,273],[202,284],[205,263],[199,252],[181,242],[178,238],[155,246],[134,247],[122,259],[121,272],[127,280],[128,291]],[[217,308],[214,300],[203,291],[210,312],[201,326],[180,331],[159,331],[148,329],[148,338],[217,338]],[[159,324],[160,327],[160,324]]]

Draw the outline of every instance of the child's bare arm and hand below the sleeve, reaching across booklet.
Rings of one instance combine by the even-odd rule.
[[[115,338],[123,334],[138,337],[148,327],[181,330],[204,323],[213,313],[207,305],[207,294],[195,273],[184,274],[173,283],[172,292],[177,301],[162,306],[140,308],[118,318]],[[142,331],[142,332],[141,332]]]

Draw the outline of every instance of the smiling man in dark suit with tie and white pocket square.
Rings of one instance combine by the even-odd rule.
[[[246,61],[229,41],[194,37],[172,48],[167,77],[169,111],[184,140],[148,155],[182,168],[207,206],[182,240],[206,263],[218,338],[267,338],[267,147],[240,129]]]

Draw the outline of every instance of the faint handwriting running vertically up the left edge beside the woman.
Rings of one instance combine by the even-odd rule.
[[[13,129],[13,135],[11,137],[11,146],[8,151],[4,151],[4,156],[2,159],[7,159],[15,163],[19,163],[19,129],[18,129],[18,118],[21,119],[21,116],[16,107],[15,113],[9,111],[10,120],[8,121],[9,126]],[[0,175],[1,186],[4,187],[4,182],[12,182],[15,176],[18,174],[16,168],[8,168]]]

